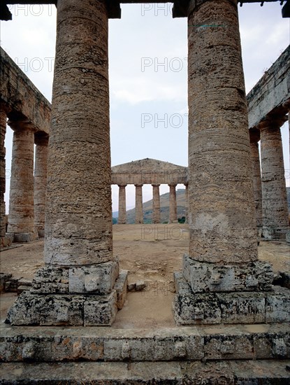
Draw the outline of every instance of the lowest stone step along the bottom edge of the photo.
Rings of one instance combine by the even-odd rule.
[[[289,385],[290,361],[3,363],[1,384]]]

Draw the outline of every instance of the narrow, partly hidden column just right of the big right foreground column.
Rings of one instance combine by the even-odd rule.
[[[253,167],[253,182],[254,182],[254,200],[256,207],[256,230],[257,235],[261,237],[263,228],[262,214],[262,183],[261,183],[261,165],[259,156],[259,140],[260,132],[257,129],[249,130],[249,140],[251,144],[251,158]]]

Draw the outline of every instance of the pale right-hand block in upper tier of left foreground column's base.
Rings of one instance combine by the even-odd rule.
[[[108,294],[112,291],[118,274],[117,261],[101,265],[71,267],[68,270],[69,292]]]

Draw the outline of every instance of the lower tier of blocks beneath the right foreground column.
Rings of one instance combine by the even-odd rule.
[[[177,325],[282,323],[290,318],[290,290],[194,293],[182,273],[175,273],[173,316]]]

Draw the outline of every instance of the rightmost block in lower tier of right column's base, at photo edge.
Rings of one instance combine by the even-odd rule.
[[[275,293],[266,295],[266,322],[290,321],[290,289],[275,287]]]

